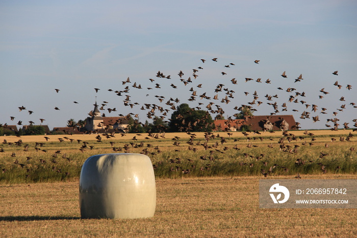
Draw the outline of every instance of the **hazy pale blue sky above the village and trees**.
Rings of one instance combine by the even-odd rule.
[[[39,124],[39,118],[45,118],[43,124],[50,129],[63,127],[70,118],[85,119],[95,97],[98,104],[108,102],[105,109],[117,109],[106,110],[107,116],[139,113],[143,123],[148,120],[147,111],[140,110],[144,103],[168,108],[165,103],[170,97],[180,99],[177,105],[189,103],[202,109],[214,102],[227,117],[237,112],[235,106],[252,102],[257,91],[257,101],[263,104],[253,105],[256,115],[273,112],[264,96],[277,94],[271,102],[277,103],[277,114],[293,114],[302,129],[325,128],[326,119],[335,117],[339,124],[352,126],[357,118],[357,108],[350,105],[357,103],[356,12],[355,1],[2,1],[0,123]],[[235,65],[224,67],[230,63]],[[187,80],[198,67],[203,68],[198,77],[185,86],[177,74],[182,70]],[[157,78],[158,70],[171,79]],[[336,70],[338,76],[331,74]],[[284,71],[288,78],[281,77]],[[303,80],[294,83],[300,74]],[[132,83],[122,85],[127,77]],[[233,78],[237,84],[232,84]],[[258,78],[263,83],[256,82]],[[268,78],[271,84],[264,83]],[[143,89],[132,87],[134,82]],[[161,88],[155,88],[155,83]],[[199,97],[187,101],[191,87],[197,95],[207,92],[213,98],[219,83],[235,91],[230,103]],[[131,102],[139,105],[124,106],[125,96],[108,91],[125,86],[130,86]],[[287,92],[289,87],[296,90]],[[94,88],[100,90],[96,93]],[[322,88],[329,93],[320,92]],[[295,99],[315,104],[318,110],[288,103],[296,91],[304,91],[306,97]],[[165,99],[160,103],[155,96]],[[218,97],[224,98],[224,91]],[[287,111],[282,111],[284,102]],[[337,111],[343,104],[346,108]],[[20,112],[20,106],[27,110]],[[321,108],[327,114],[320,113]],[[311,117],[319,115],[320,121],[299,119],[304,110]],[[15,116],[14,121],[10,116]]]

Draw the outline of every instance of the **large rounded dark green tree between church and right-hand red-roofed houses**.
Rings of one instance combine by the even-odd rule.
[[[207,131],[214,128],[212,116],[208,111],[195,110],[183,103],[171,114],[170,131]]]

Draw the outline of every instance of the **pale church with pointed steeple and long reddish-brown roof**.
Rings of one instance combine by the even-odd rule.
[[[84,131],[100,131],[100,130],[116,130],[126,132],[129,126],[129,118],[126,116],[111,116],[107,117],[100,113],[97,102],[94,104],[94,109],[89,112],[89,117],[86,118]]]

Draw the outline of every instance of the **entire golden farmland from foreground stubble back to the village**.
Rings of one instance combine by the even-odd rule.
[[[356,236],[356,209],[259,208],[259,179],[357,179],[356,132],[289,133],[215,132],[208,139],[194,133],[192,141],[186,133],[158,138],[100,134],[100,141],[98,134],[51,135],[48,141],[44,136],[1,137],[8,143],[0,145],[2,236]],[[11,144],[19,139],[21,144]],[[155,216],[80,219],[84,160],[124,152],[151,158],[157,179]]]

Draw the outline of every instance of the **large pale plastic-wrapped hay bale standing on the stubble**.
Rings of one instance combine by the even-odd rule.
[[[148,218],[156,208],[156,184],[146,155],[123,153],[89,157],[80,177],[82,218]]]

